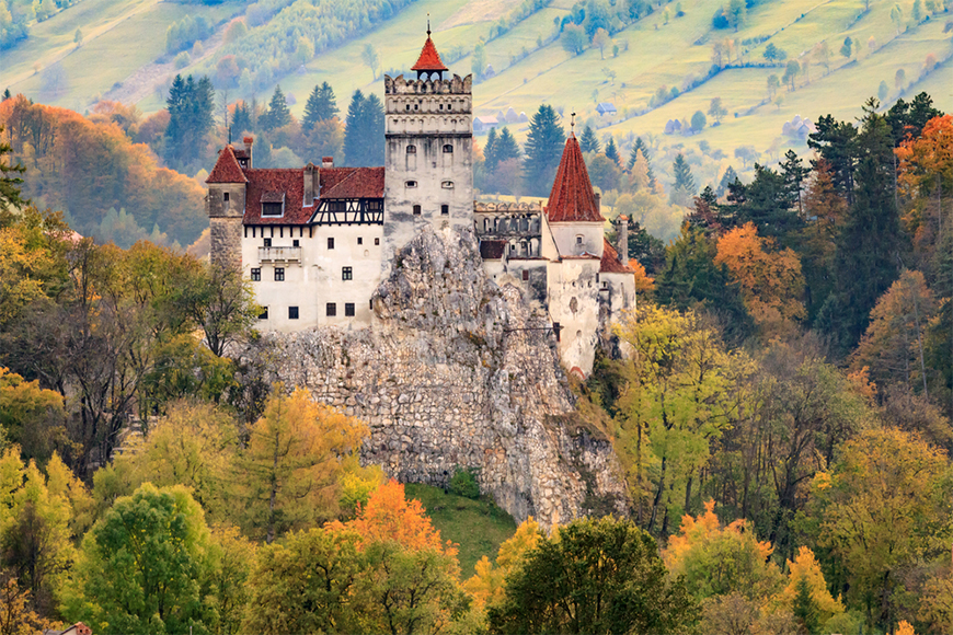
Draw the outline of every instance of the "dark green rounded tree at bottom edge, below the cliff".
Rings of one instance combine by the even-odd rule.
[[[491,633],[689,633],[698,607],[631,521],[574,520],[541,538],[491,605]]]

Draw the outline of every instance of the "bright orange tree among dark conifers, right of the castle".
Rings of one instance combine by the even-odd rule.
[[[801,261],[792,250],[770,251],[773,246],[747,223],[719,239],[715,256],[715,263],[727,267],[740,285],[745,307],[763,331],[804,316]]]

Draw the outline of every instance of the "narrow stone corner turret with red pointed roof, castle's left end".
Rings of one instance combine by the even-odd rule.
[[[245,210],[245,177],[241,163],[251,168],[251,138],[245,148],[226,146],[218,154],[211,174],[205,180],[208,195],[205,210],[210,230],[210,259],[214,265],[242,266],[242,215]]]

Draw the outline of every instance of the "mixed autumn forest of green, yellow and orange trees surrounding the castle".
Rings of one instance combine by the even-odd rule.
[[[819,116],[808,161],[700,192],[684,158],[664,184],[641,139],[579,131],[607,216],[630,216],[640,296],[613,333],[629,355],[573,390],[630,515],[528,519],[462,570],[359,463],[364,423],[241,355],[248,280],[73,231],[95,219],[77,201],[148,227],[179,200],[194,236],[200,187],[163,165],[230,127],[267,161],[320,139],[380,162],[359,142],[380,137],[375,95],[345,126],[328,84],[301,122],[280,89],[214,94],[176,78],[145,119],[0,105],[0,633],[953,632],[953,116],[929,95]],[[478,186],[551,182],[566,131],[549,105],[529,128],[476,148]],[[631,211],[644,197],[684,219],[667,243]],[[451,488],[480,495],[466,471]]]

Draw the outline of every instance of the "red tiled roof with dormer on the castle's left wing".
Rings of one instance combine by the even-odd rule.
[[[317,170],[320,198],[383,198],[383,168],[321,168]],[[315,207],[305,207],[305,170],[257,169],[245,172],[244,224],[307,224]],[[279,203],[285,213],[262,218],[262,203]],[[311,201],[307,201],[311,203]]]

